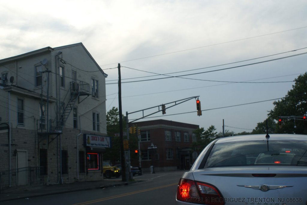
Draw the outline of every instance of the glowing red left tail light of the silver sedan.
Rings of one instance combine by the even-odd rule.
[[[188,203],[223,205],[219,191],[212,185],[180,179],[177,188],[177,200]]]

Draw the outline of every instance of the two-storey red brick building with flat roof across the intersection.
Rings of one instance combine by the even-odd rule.
[[[192,132],[199,125],[181,123],[169,120],[150,120],[133,123],[140,130],[140,156],[144,172],[153,165],[155,171],[190,169],[197,154],[192,149],[196,141]],[[156,149],[148,149],[153,144]],[[153,151],[151,151],[153,150]],[[139,166],[138,160],[131,165]]]

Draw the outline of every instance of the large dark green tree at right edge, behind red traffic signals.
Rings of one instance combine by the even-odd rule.
[[[304,116],[307,112],[307,73],[298,76],[285,98],[273,104],[274,109],[268,116],[274,120],[278,120],[279,116]],[[281,126],[276,123],[275,133],[307,134],[306,123],[298,119],[282,119]]]

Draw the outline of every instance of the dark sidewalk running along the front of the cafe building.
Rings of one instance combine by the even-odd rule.
[[[134,180],[123,182],[122,178],[104,179],[100,181],[83,181],[74,182],[71,184],[56,184],[56,185],[33,185],[19,189],[15,189],[9,193],[0,194],[0,202],[14,199],[24,199],[37,196],[47,196],[52,194],[62,194],[68,192],[78,192],[92,189],[102,189],[114,186],[122,186],[141,182],[144,180]]]

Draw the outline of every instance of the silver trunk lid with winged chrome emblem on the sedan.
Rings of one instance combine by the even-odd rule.
[[[192,174],[195,181],[214,185],[225,199],[225,205],[253,203],[288,205],[306,204],[306,169],[302,166],[237,166],[199,169]],[[271,187],[267,191],[261,191],[259,188],[245,187],[249,185],[289,187],[276,189]]]

